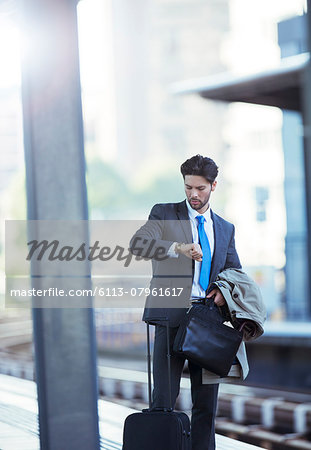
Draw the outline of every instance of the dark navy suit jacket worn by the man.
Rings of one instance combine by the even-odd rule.
[[[210,283],[224,269],[240,269],[235,249],[234,226],[211,211],[215,247]],[[152,259],[153,277],[143,320],[167,318],[178,326],[190,306],[194,261],[183,255],[167,256],[173,242],[192,242],[191,224],[186,201],[155,205],[148,221],[132,237],[130,251]]]

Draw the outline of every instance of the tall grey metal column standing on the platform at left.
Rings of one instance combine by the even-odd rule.
[[[87,220],[76,1],[24,0],[22,22],[28,219]],[[33,322],[41,448],[99,449],[93,310],[33,308]]]

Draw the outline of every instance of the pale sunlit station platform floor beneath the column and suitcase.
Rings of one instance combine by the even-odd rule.
[[[40,449],[36,396],[36,385],[33,381],[0,374],[1,450]],[[101,449],[121,450],[124,420],[136,411],[102,399],[98,401],[98,410]],[[216,435],[216,448],[256,450],[260,447]]]

